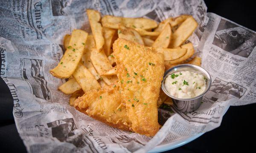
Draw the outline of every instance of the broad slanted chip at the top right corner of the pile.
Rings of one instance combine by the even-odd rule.
[[[185,42],[188,37],[195,31],[198,23],[192,16],[189,16],[172,35],[171,48],[176,48]]]

